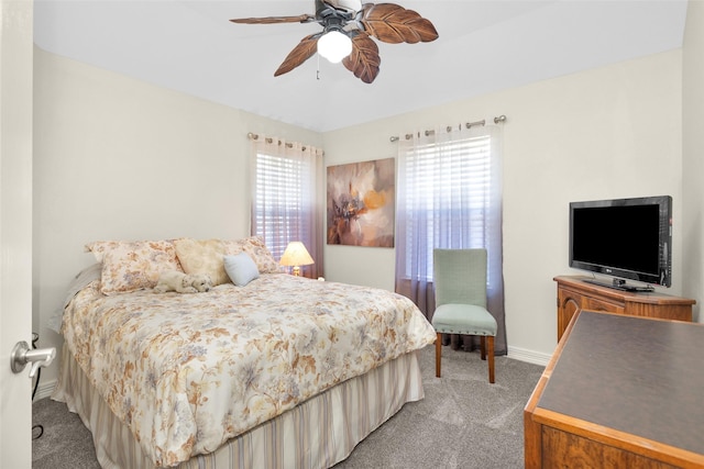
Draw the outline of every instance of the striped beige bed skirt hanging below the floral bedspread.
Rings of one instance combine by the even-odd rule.
[[[345,459],[358,443],[406,402],[424,398],[417,351],[366,375],[340,383],[284,414],[198,455],[179,469],[329,468]],[[105,469],[154,468],[132,433],[92,388],[66,347],[52,399],[78,413],[92,433]]]

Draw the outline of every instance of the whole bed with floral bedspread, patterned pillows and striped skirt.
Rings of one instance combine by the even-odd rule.
[[[436,334],[403,295],[282,273],[256,237],[87,248],[52,398],[103,468],[331,467],[424,398],[416,351]],[[168,268],[215,286],[155,293]]]

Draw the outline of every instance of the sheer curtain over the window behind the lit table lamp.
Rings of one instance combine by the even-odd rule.
[[[301,276],[322,276],[322,149],[257,135],[252,158],[252,234],[277,260],[289,242],[302,242],[315,264]]]

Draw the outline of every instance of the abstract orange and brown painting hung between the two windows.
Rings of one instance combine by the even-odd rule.
[[[328,166],[328,244],[394,247],[395,163]]]

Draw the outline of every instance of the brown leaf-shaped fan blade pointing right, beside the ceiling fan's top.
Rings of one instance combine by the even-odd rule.
[[[415,44],[438,38],[430,20],[395,3],[365,3],[360,22],[367,34],[384,43]]]

